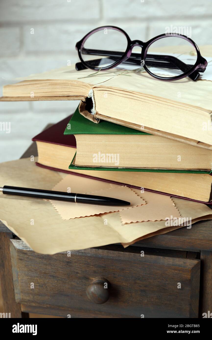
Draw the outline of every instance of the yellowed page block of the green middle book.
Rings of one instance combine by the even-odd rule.
[[[206,171],[212,168],[212,150],[159,136],[78,134],[75,138],[76,166]]]

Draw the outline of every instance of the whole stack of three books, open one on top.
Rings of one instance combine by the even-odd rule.
[[[37,165],[212,204],[212,82],[92,73],[65,67],[4,86],[1,100],[81,100],[33,138]]]

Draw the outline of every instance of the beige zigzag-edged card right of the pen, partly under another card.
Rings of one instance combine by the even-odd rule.
[[[169,196],[149,191],[141,193],[138,189],[133,189],[133,191],[140,195],[147,204],[120,211],[122,223],[160,221],[166,218],[181,217],[180,212]]]

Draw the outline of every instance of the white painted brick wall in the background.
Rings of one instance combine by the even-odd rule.
[[[0,1],[0,95],[15,78],[78,61],[76,42],[105,24],[143,41],[165,27],[191,27],[198,45],[212,44],[211,0],[2,0]],[[31,34],[34,29],[34,34]],[[1,102],[0,162],[19,158],[48,122],[68,116],[77,101]]]

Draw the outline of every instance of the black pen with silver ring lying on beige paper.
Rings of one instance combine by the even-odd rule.
[[[75,203],[89,203],[98,205],[130,205],[130,202],[118,200],[112,197],[88,195],[82,193],[68,193],[53,190],[41,190],[21,187],[11,187],[4,185],[0,187],[0,191],[7,195],[27,196],[44,198],[49,200],[68,201]]]

